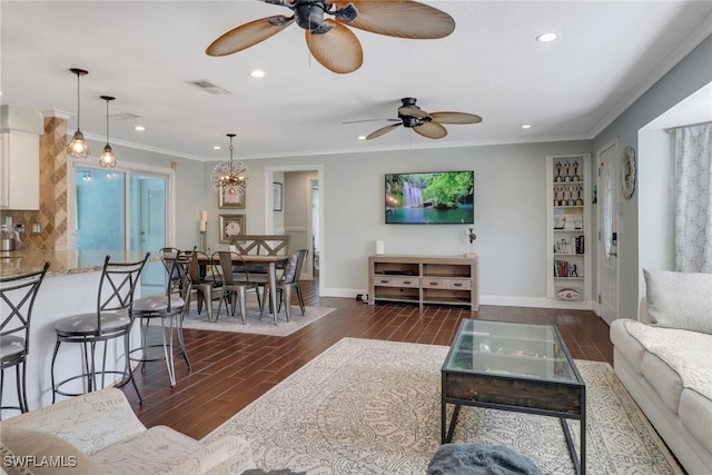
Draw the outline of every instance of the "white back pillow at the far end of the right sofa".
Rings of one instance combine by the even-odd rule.
[[[712,334],[712,274],[643,269],[651,323]]]

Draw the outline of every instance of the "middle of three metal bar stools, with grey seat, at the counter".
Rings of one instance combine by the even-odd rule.
[[[57,333],[57,344],[52,354],[52,404],[58,394],[62,396],[78,396],[83,393],[69,393],[69,389],[61,389],[68,383],[79,379],[83,384],[85,393],[91,393],[105,387],[105,377],[108,374],[121,375],[122,378],[117,387],[126,386],[129,382],[134,385],[139,403],[144,404],[141,394],[138,390],[131,362],[129,359],[129,344],[134,317],[131,306],[134,305],[134,291],[139,283],[141,270],[148,260],[150,253],[146,253],[144,259],[135,263],[110,263],[107,256],[99,280],[99,293],[97,296],[97,311],[90,314],[79,314],[66,317],[55,323]],[[123,339],[123,370],[107,369],[107,346],[112,339]],[[82,373],[62,379],[57,383],[55,367],[57,354],[62,343],[80,344],[82,350]],[[97,369],[96,349],[97,344],[103,343],[103,358],[101,368]],[[97,385],[97,375],[101,375],[101,386]]]

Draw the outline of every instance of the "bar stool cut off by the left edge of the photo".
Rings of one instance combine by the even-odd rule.
[[[27,404],[27,356],[30,350],[30,320],[37,291],[44,279],[50,263],[42,270],[0,279],[2,323],[0,324],[0,405],[4,387],[4,370],[14,367],[18,393],[17,406],[1,406],[1,409],[29,410]]]

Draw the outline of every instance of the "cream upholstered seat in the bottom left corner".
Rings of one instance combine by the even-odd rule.
[[[246,439],[204,444],[166,426],[147,429],[115,388],[2,420],[0,439],[0,473],[8,474],[218,475],[255,468]]]

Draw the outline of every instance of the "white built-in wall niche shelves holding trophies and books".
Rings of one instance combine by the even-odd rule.
[[[591,300],[591,155],[546,157],[547,297]]]

